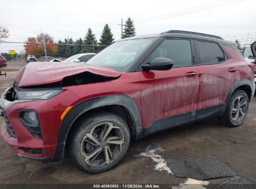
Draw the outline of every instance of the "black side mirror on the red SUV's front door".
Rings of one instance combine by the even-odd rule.
[[[141,66],[142,70],[144,71],[171,70],[172,67],[173,67],[173,60],[170,60],[168,58],[162,58],[162,57],[156,57],[151,63]]]

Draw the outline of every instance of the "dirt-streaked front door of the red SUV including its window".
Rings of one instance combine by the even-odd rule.
[[[150,63],[156,57],[169,58],[174,65],[171,70],[140,71],[142,119],[143,126],[154,124],[161,130],[164,122],[171,126],[196,118],[199,70],[193,61],[193,40],[164,39],[143,63]],[[187,119],[179,117],[181,114]],[[177,119],[158,120],[168,117]]]

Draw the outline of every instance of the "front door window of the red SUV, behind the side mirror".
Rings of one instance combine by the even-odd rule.
[[[151,62],[156,57],[169,58],[173,60],[174,67],[191,65],[192,53],[190,40],[166,39],[151,55]]]

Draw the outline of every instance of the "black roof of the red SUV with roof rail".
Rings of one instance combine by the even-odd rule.
[[[189,32],[183,30],[168,30],[167,32],[163,32],[161,34],[148,34],[148,35],[138,35],[134,37],[128,37],[126,39],[121,40],[130,40],[130,39],[143,39],[143,38],[156,38],[156,37],[174,37],[174,38],[187,38],[187,39],[201,39],[201,40],[211,40],[214,42],[218,42],[224,45],[234,45],[234,42],[229,42],[227,40],[222,39],[217,35],[211,34],[202,34],[198,32]]]

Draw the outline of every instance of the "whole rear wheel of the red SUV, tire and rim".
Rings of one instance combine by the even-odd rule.
[[[242,105],[237,108],[237,104]],[[220,117],[220,121],[225,126],[237,127],[244,122],[249,109],[249,98],[243,90],[236,90],[229,99],[224,115]]]

